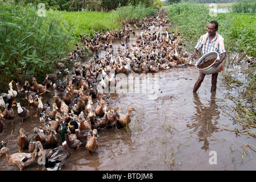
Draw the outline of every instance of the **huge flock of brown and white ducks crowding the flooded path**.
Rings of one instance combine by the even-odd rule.
[[[37,117],[38,127],[33,131],[21,127],[17,139],[18,153],[11,154],[7,141],[2,141],[0,156],[6,154],[6,163],[21,170],[36,163],[37,158],[42,159],[43,169],[59,170],[68,163],[72,153],[70,148],[84,145],[88,152],[97,151],[98,133],[103,129],[129,125],[130,113],[135,111],[134,107],[129,107],[127,113],[122,114],[117,106],[109,105],[108,94],[99,92],[99,88],[114,79],[111,70],[114,69],[115,74],[127,75],[194,65],[186,50],[183,51],[179,35],[167,31],[167,28],[158,31],[159,27],[167,26],[170,26],[167,13],[160,10],[137,24],[126,22],[122,29],[102,30],[91,34],[90,38],[81,36],[78,43],[81,46],[76,44],[77,48],[58,63],[59,68],[63,68],[66,61],[74,63],[72,79],[67,76],[63,85],[57,84],[55,73],[47,74],[42,83],[33,77],[33,86],[29,81],[19,84],[13,78],[10,90],[0,95],[0,106],[4,108],[0,113],[1,132],[6,131],[5,122],[13,122],[17,117],[21,122]],[[135,42],[130,41],[130,35]],[[116,51],[114,46],[117,44],[113,46],[113,42],[120,43]],[[89,64],[85,63],[87,49],[94,53]],[[99,56],[102,50],[106,51],[105,56]],[[23,98],[17,97],[21,95]],[[53,96],[52,103],[43,103],[45,96]],[[24,100],[29,104],[22,106]],[[93,102],[97,104],[93,105]],[[17,114],[14,107],[17,107]],[[26,132],[33,134],[28,136]],[[60,139],[62,144],[58,142]]]

